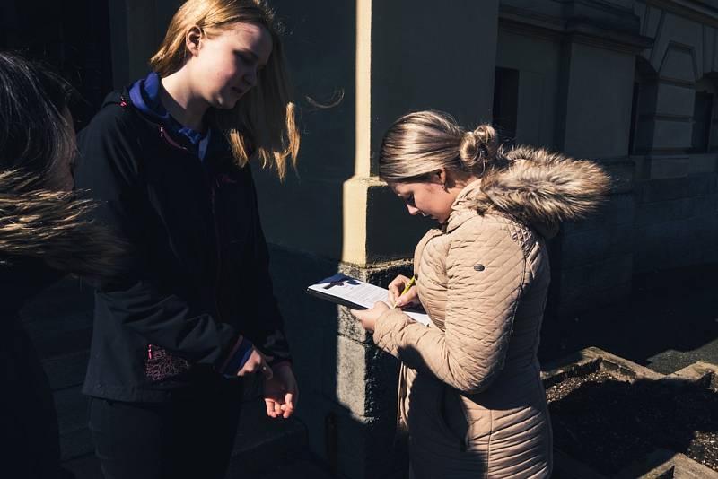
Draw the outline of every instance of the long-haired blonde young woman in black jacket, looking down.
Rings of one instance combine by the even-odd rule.
[[[249,164],[296,159],[281,47],[264,2],[189,0],[79,135],[76,185],[131,248],[96,289],[83,386],[108,479],[224,477],[251,375],[268,416],[297,405]]]

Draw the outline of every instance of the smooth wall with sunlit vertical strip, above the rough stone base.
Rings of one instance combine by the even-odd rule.
[[[359,265],[411,256],[430,223],[409,217],[372,178],[381,135],[416,109],[490,121],[498,3],[363,0],[352,10],[328,1],[311,15],[288,0],[275,4],[291,22],[298,89],[318,100],[345,95],[334,109],[305,106],[301,180],[280,187],[258,175],[267,239]]]

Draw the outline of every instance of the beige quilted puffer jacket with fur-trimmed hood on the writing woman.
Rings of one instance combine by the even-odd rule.
[[[517,148],[465,187],[415,253],[425,327],[400,309],[374,342],[403,361],[399,415],[416,478],[551,474],[538,336],[550,281],[545,238],[593,210],[609,179],[590,161]]]

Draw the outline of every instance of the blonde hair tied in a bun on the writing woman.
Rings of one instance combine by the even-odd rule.
[[[381,142],[379,176],[385,181],[421,181],[445,168],[484,175],[504,162],[493,126],[459,126],[448,113],[425,110],[398,118]]]

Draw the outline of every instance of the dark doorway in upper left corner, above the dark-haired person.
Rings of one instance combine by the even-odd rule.
[[[107,0],[1,2],[0,50],[47,63],[77,89],[78,130],[112,90]]]

